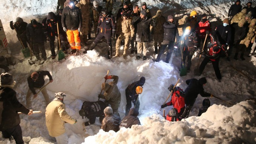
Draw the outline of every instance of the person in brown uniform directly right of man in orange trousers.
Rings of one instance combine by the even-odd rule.
[[[90,6],[90,1],[89,0],[81,0],[78,4],[76,4],[76,7],[78,7],[81,11],[82,15],[82,27],[80,30],[80,40],[81,45],[84,47],[85,44],[88,45],[88,39],[87,35],[89,35],[89,30],[92,29],[91,27],[91,21],[92,17],[90,14],[91,11],[91,6]]]

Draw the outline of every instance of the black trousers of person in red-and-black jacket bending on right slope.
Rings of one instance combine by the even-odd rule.
[[[207,65],[208,62],[210,62],[210,58],[208,56],[206,56],[204,58],[204,60],[202,61],[200,67],[199,67],[199,73],[202,74],[204,71],[205,66]],[[215,61],[211,61],[211,63],[213,64],[213,69],[215,72],[215,75],[218,79],[221,79],[221,74],[220,74],[220,68],[219,68],[219,61],[220,58],[215,59]]]

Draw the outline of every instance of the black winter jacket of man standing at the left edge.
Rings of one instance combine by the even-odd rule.
[[[3,104],[2,113],[0,115],[0,131],[5,131],[20,124],[18,112],[24,114],[29,113],[29,109],[24,107],[17,100],[16,92],[11,88],[0,88],[0,104]]]

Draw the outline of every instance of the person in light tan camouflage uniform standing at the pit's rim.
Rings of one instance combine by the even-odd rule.
[[[115,53],[115,57],[117,58],[119,55],[119,47],[121,44],[121,41],[124,39],[125,43],[124,43],[124,59],[127,58],[127,50],[129,47],[129,42],[130,40],[132,40],[132,38],[134,37],[134,26],[132,25],[132,18],[129,17],[128,13],[122,13],[122,18],[118,19],[118,23],[117,23],[117,32],[120,31],[120,35],[116,40],[116,44],[115,44],[115,49],[116,49],[116,53]]]

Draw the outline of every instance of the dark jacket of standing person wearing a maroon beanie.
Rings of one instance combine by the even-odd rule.
[[[175,37],[179,40],[178,28],[175,23],[165,22],[164,25],[164,41],[175,41]]]

